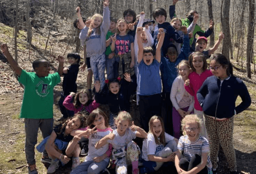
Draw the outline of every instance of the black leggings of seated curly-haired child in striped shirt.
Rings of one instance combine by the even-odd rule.
[[[200,155],[194,154],[191,157],[190,162],[186,158],[180,159],[179,166],[181,169],[183,169],[183,171],[187,172],[193,169],[195,166],[197,166],[200,163],[201,163]],[[207,166],[205,166],[200,172],[198,172],[198,174],[208,174]]]

